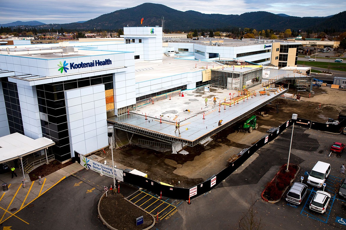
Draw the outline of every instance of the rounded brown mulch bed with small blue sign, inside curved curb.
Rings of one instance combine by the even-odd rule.
[[[100,202],[102,218],[113,228],[119,230],[145,229],[153,224],[153,217],[126,201],[121,193],[108,191]],[[143,215],[143,224],[136,226],[136,218]]]

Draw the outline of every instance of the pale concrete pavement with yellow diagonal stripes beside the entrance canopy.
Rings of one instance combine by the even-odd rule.
[[[6,183],[8,183],[9,189],[7,192],[0,192],[0,224],[13,215],[17,217],[15,214],[21,209],[25,208],[46,191],[53,188],[53,186],[65,179],[67,176],[70,176],[82,169],[84,169],[82,165],[79,163],[73,163],[42,178],[41,185],[38,180],[27,181],[29,176],[26,174],[25,188],[22,186],[23,176],[21,173],[17,173],[17,177],[13,179],[10,178],[11,173],[2,176],[2,181],[8,181]],[[25,220],[22,221],[26,222]]]

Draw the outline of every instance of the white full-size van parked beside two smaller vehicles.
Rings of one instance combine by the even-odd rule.
[[[315,166],[313,166],[309,177],[308,184],[312,186],[321,188],[323,183],[326,181],[330,173],[330,164],[318,161]]]

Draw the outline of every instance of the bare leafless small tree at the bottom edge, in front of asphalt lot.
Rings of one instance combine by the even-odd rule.
[[[262,217],[258,217],[259,213],[255,208],[255,198],[251,194],[250,203],[248,203],[248,210],[244,212],[239,220],[239,228],[243,230],[260,230],[262,229]]]

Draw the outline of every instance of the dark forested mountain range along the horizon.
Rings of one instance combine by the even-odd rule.
[[[143,25],[140,25],[142,17],[144,21]],[[275,15],[265,11],[247,12],[241,15],[221,15],[205,14],[193,10],[179,11],[155,3],[143,3],[136,7],[117,10],[84,22],[47,25],[34,21],[41,24],[31,24],[31,26],[46,29],[60,29],[62,27],[64,29],[82,31],[94,29],[117,31],[124,26],[161,26],[162,17],[165,19],[164,29],[167,31],[189,31],[191,29],[230,31],[235,28],[273,29],[279,31],[291,29],[316,32],[344,32],[346,30],[346,11],[328,17],[293,17],[285,14]],[[7,23],[1,26],[19,26],[18,22]],[[17,25],[9,25],[14,23]]]

